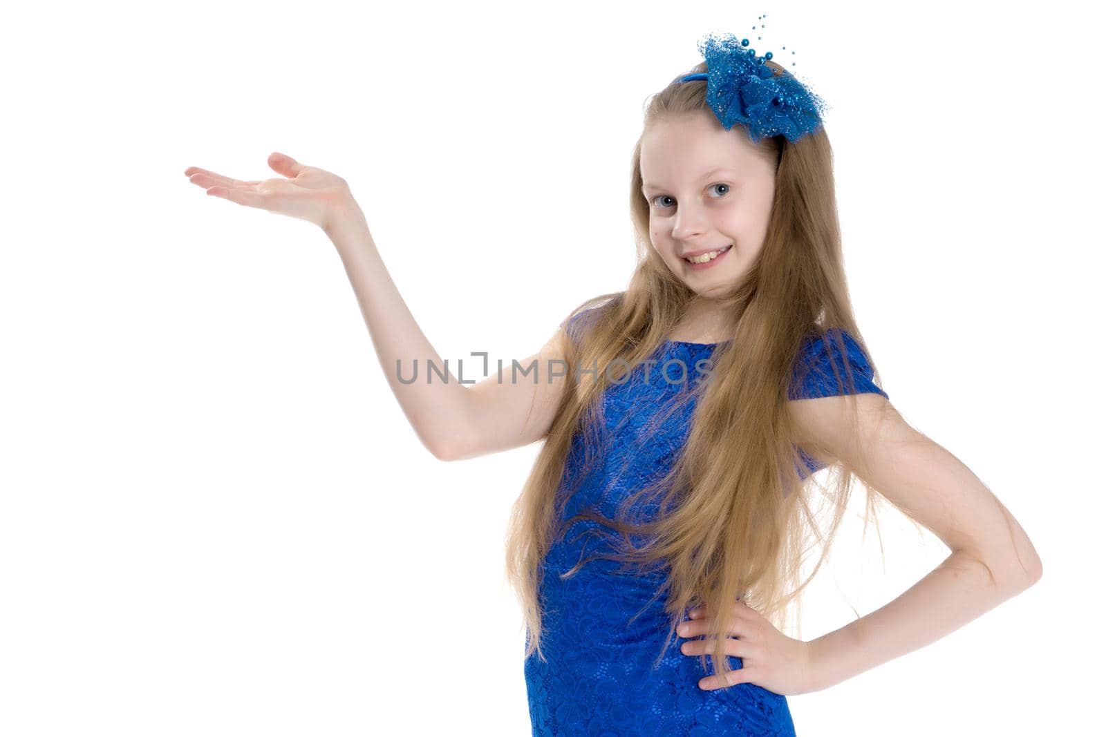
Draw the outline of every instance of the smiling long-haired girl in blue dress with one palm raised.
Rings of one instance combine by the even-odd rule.
[[[1041,577],[1003,505],[877,383],[842,267],[821,101],[747,41],[700,51],[651,97],[634,149],[628,288],[573,310],[514,367],[521,378],[401,380],[400,365],[441,360],[341,177],[281,154],[279,179],[185,172],[323,228],[435,456],[544,440],[508,541],[535,735],[793,735],[787,695],[933,642]],[[881,609],[792,639],[786,614],[854,481],[951,555]]]

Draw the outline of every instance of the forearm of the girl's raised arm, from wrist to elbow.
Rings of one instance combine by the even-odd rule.
[[[471,397],[419,328],[380,259],[365,217],[355,203],[324,229],[353,285],[388,386],[419,440],[436,455],[448,454],[470,421]],[[448,377],[430,373],[428,362]],[[415,367],[418,376],[411,377]],[[400,381],[400,368],[403,379]],[[428,382],[429,377],[429,382]]]

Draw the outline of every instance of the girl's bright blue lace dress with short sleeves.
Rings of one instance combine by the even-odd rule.
[[[580,328],[580,317],[570,323],[570,335]],[[847,333],[842,337],[857,392],[886,397],[873,381],[859,345]],[[693,379],[696,367],[702,366],[697,362],[709,360],[716,345],[668,341],[654,354],[655,365],[638,365],[629,380],[606,390],[601,446],[585,448],[587,435],[577,433],[570,450],[565,480],[575,478],[585,451],[597,452],[598,460],[570,498],[563,520],[585,506],[614,517],[619,501],[668,470],[686,440],[695,401],[677,403],[682,409],[659,427],[646,428],[649,417],[685,383],[677,381],[682,371],[677,364],[671,364],[667,373],[660,369],[676,359]],[[836,378],[844,376],[844,364],[835,340],[826,345],[812,338],[801,357],[807,359],[808,370],[796,371],[799,378],[789,391],[791,399],[849,393]],[[651,367],[648,378],[647,366]],[[812,472],[821,467],[805,454],[804,459]],[[623,568],[619,561],[593,559],[571,577],[560,578],[559,573],[575,566],[582,556],[595,554],[599,538],[580,533],[596,525],[588,519],[574,522],[543,562],[539,597],[545,612],[545,661],[535,652],[524,662],[533,735],[794,735],[783,695],[751,683],[712,691],[699,688],[699,681],[711,675],[713,666],[708,659],[703,672],[698,655],[682,654],[682,639],[678,635],[674,634],[654,668],[669,628],[664,596],[648,603],[660,587],[661,573],[644,575]],[[685,611],[682,620],[687,619]],[[741,667],[740,657],[728,657],[731,667]]]

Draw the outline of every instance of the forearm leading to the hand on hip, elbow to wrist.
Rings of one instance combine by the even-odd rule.
[[[995,582],[979,560],[952,552],[895,600],[811,641],[811,691],[928,645],[1029,586]]]

